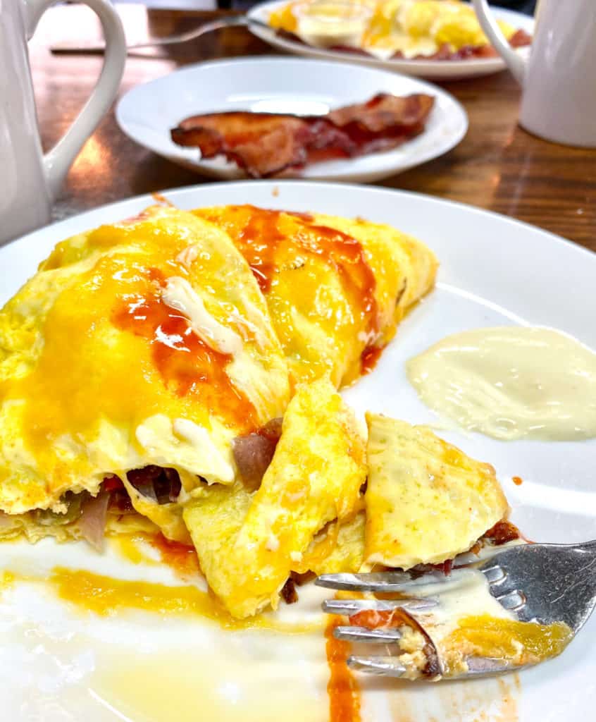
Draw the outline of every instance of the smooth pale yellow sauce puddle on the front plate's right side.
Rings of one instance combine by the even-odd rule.
[[[596,353],[552,329],[447,336],[407,365],[425,404],[496,439],[596,436]]]

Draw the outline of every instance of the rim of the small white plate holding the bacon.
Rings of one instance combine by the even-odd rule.
[[[205,165],[205,162],[201,162],[201,159],[194,162],[193,160],[185,157],[172,157],[172,155],[165,155],[162,152],[159,152],[157,149],[154,149],[154,147],[149,146],[149,144],[146,144],[145,142],[141,142],[139,138],[136,136],[136,134],[133,134],[131,132],[131,129],[128,127],[127,121],[123,118],[123,113],[126,113],[126,105],[128,103],[132,102],[132,98],[134,95],[138,92],[143,92],[143,90],[146,90],[147,88],[151,87],[154,84],[159,84],[163,82],[167,82],[167,79],[170,78],[173,75],[177,75],[180,77],[180,75],[188,74],[192,75],[193,73],[198,73],[201,71],[209,72],[209,69],[211,68],[222,68],[229,66],[233,69],[242,68],[242,66],[246,66],[247,64],[255,64],[255,65],[263,65],[263,66],[283,66],[284,64],[299,64],[300,66],[306,66],[306,64],[313,64],[318,66],[327,66],[327,69],[329,72],[333,71],[340,71],[340,72],[349,72],[353,71],[354,68],[351,67],[349,64],[346,64],[345,62],[336,60],[335,58],[307,58],[302,56],[296,56],[296,55],[279,55],[279,54],[273,54],[273,55],[250,55],[250,56],[240,56],[237,58],[215,58],[214,60],[204,61],[204,62],[197,62],[197,63],[190,63],[188,65],[182,66],[180,68],[176,68],[170,72],[167,72],[163,75],[160,75],[159,77],[152,78],[149,80],[146,80],[145,82],[138,83],[136,85],[133,85],[127,92],[118,99],[118,103],[115,106],[115,118],[116,123],[118,123],[118,127],[120,131],[123,132],[129,139],[131,139],[134,143],[140,145],[141,147],[144,147],[151,151],[152,153],[155,153],[156,155],[159,155],[160,157],[165,158],[166,160],[169,160],[170,162],[174,162],[178,165],[183,165],[185,168],[189,168],[190,170],[193,170],[196,173],[203,173],[203,176],[211,178],[221,178],[222,180],[226,181],[242,181],[246,178],[233,178],[231,176],[228,176],[224,169],[222,169],[221,172],[219,172],[219,169],[214,170]],[[417,92],[426,92],[429,95],[433,95],[437,100],[442,100],[443,103],[448,103],[450,105],[450,108],[453,113],[457,113],[457,116],[459,116],[458,121],[460,123],[460,129],[458,129],[457,133],[452,134],[450,139],[447,143],[444,144],[444,147],[442,145],[439,145],[439,149],[429,150],[426,152],[426,154],[422,154],[419,157],[412,157],[412,162],[407,162],[406,164],[393,164],[391,167],[382,167],[377,168],[377,170],[350,170],[349,164],[352,160],[351,158],[346,159],[337,159],[338,161],[345,162],[346,163],[346,170],[340,173],[330,173],[330,175],[324,175],[324,173],[320,175],[313,175],[311,177],[305,178],[304,180],[308,181],[317,181],[317,180],[329,180],[331,182],[341,181],[343,183],[349,183],[349,182],[373,182],[376,180],[380,180],[380,178],[388,178],[391,175],[398,175],[399,173],[403,173],[406,170],[409,170],[411,168],[416,168],[418,165],[422,165],[423,163],[429,162],[431,160],[434,160],[435,158],[441,157],[447,152],[450,152],[452,149],[457,147],[463,139],[465,138],[466,134],[468,133],[468,130],[470,128],[470,118],[468,117],[468,112],[465,110],[465,106],[463,103],[460,103],[457,98],[452,95],[452,93],[448,92],[447,90],[444,90],[444,88],[439,87],[437,84],[434,84],[432,82],[429,82],[426,79],[421,79],[419,77],[413,77],[408,74],[404,73],[396,73],[395,71],[390,71],[388,69],[377,67],[377,66],[359,66],[359,71],[369,72],[371,74],[381,74],[382,76],[385,76],[385,79],[387,79],[387,82],[389,81],[395,81],[395,79],[403,79],[407,81],[408,83],[413,82],[416,85],[419,85],[419,90]],[[438,104],[437,104],[438,106]],[[125,110],[123,110],[123,108]],[[214,111],[215,112],[215,111]],[[424,135],[421,134],[421,136]],[[440,139],[439,139],[440,140]],[[403,146],[399,146],[395,150],[402,149]],[[387,157],[388,154],[390,154],[392,150],[388,151],[387,154],[379,154],[379,155],[385,155]],[[419,160],[421,158],[421,160]],[[357,160],[357,159],[356,159]],[[336,161],[337,162],[337,161]],[[313,166],[315,168],[315,166]],[[359,178],[360,176],[360,178]],[[345,180],[343,180],[345,179]],[[364,180],[366,179],[366,180]],[[273,179],[274,180],[274,179]]]

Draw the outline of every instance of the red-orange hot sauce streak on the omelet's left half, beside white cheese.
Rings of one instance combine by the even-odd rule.
[[[147,339],[159,374],[178,396],[199,396],[224,419],[256,425],[253,404],[233,385],[225,372],[232,356],[211,349],[193,331],[188,318],[162,301],[162,274],[148,269],[144,293],[121,297],[112,322],[118,328]]]

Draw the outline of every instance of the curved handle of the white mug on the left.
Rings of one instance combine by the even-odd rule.
[[[23,0],[27,40],[35,32],[40,17],[56,0]],[[82,0],[99,17],[105,35],[105,55],[100,77],[81,112],[56,145],[43,156],[45,178],[52,198],[56,198],[66,173],[84,142],[106,113],[120,87],[126,61],[126,38],[120,17],[108,0]]]

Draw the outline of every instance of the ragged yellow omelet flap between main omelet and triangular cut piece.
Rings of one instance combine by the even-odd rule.
[[[235,617],[275,608],[325,524],[354,518],[366,479],[364,440],[329,380],[299,386],[259,489],[203,484],[184,520],[209,586]]]

